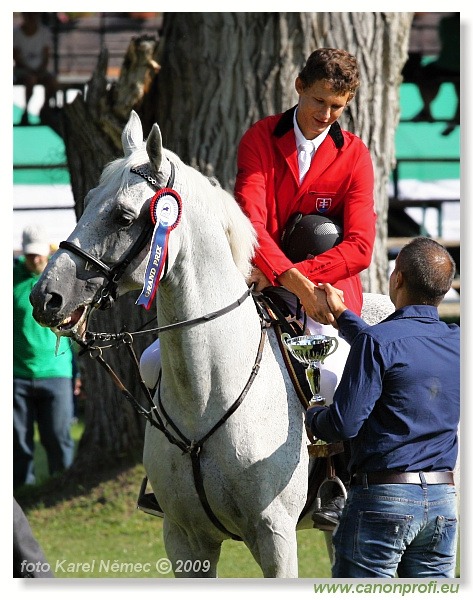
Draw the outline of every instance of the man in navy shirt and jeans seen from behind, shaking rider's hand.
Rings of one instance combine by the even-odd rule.
[[[373,326],[323,285],[351,345],[333,404],[306,415],[316,437],[350,440],[333,577],[455,576],[460,328],[437,311],[454,275],[443,246],[415,238],[389,280],[396,310]]]

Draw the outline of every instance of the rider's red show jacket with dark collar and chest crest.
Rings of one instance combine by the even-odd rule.
[[[360,314],[359,273],[371,262],[376,230],[371,156],[359,137],[335,122],[299,185],[295,108],[258,121],[239,144],[235,197],[258,236],[254,264],[272,285],[279,285],[277,277],[292,267],[314,283],[331,283],[343,290],[348,308]],[[280,243],[295,212],[335,218],[343,225],[343,241],[292,263]]]

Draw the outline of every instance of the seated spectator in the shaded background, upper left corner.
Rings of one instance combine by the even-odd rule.
[[[41,13],[21,13],[23,21],[13,30],[13,83],[25,86],[25,110],[20,124],[28,125],[28,105],[35,85],[44,86],[44,104],[40,116],[58,88],[56,77],[48,71],[52,49],[50,30],[41,23]]]

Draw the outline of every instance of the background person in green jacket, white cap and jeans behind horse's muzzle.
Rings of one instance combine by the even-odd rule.
[[[23,231],[23,256],[13,267],[13,487],[36,482],[34,425],[48,459],[50,475],[67,469],[74,457],[73,355],[69,345],[56,352],[56,335],[33,319],[29,296],[49,257],[50,244],[35,225]]]

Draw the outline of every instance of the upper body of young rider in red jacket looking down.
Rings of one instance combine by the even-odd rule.
[[[361,139],[337,119],[359,86],[356,59],[344,50],[322,48],[296,79],[298,105],[255,123],[238,150],[237,201],[258,235],[251,281],[257,290],[283,285],[309,317],[332,322],[314,284],[343,290],[345,304],[360,314],[359,273],[370,262],[375,238],[373,165]],[[315,146],[310,168],[299,178],[298,139]],[[322,138],[321,140],[319,138]],[[321,141],[321,143],[319,143]],[[281,235],[295,213],[321,214],[342,224],[343,241],[296,264],[281,250]]]

